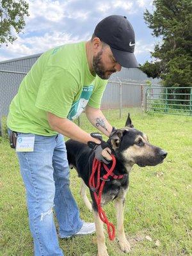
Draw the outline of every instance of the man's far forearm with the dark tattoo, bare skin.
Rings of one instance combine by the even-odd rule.
[[[109,137],[113,127],[109,124],[108,120],[106,120],[102,111],[100,111],[100,109],[97,108],[86,106],[85,113],[86,117],[91,122],[91,124]]]

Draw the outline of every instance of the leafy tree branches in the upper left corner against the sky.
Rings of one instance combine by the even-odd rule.
[[[0,0],[0,47],[17,39],[13,29],[17,34],[22,31],[25,26],[24,16],[29,16],[28,8],[29,4],[24,0]]]

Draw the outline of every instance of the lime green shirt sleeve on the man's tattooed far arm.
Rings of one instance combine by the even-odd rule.
[[[100,108],[100,102],[102,100],[102,95],[104,93],[104,90],[106,88],[106,85],[108,84],[108,80],[102,80],[97,79],[92,96],[90,97],[90,100],[88,102],[88,106],[92,108]]]

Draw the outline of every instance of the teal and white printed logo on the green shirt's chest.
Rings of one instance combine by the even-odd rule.
[[[81,115],[84,108],[88,104],[88,101],[90,100],[93,88],[93,85],[83,86],[83,90],[81,92],[79,99],[73,102],[72,107],[70,108],[70,111],[67,116],[69,120],[75,120],[79,115]]]

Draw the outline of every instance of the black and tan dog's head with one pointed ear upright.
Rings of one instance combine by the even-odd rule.
[[[113,132],[109,141],[116,156],[129,166],[155,166],[163,163],[167,155],[163,149],[150,144],[143,132],[134,128],[129,114],[125,127]]]

